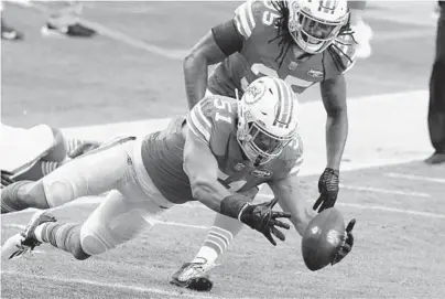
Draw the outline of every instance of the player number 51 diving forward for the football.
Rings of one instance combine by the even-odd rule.
[[[299,191],[303,146],[297,110],[289,85],[259,78],[241,100],[207,96],[162,131],[101,146],[37,182],[10,184],[2,200],[21,207],[50,209],[110,192],[84,223],[57,222],[48,211],[35,213],[22,233],[3,244],[2,257],[15,258],[50,243],[86,259],[135,237],[151,220],[188,201],[247,224],[273,244],[274,237],[285,238],[279,227],[290,228],[283,218],[302,235],[312,215]],[[249,195],[262,183],[275,199],[251,204]],[[284,212],[272,210],[276,203]],[[351,249],[351,232],[343,239],[332,264]]]

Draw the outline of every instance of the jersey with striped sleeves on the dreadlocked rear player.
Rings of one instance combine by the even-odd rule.
[[[248,0],[235,12],[237,31],[243,38],[240,52],[234,53],[217,66],[209,78],[213,94],[234,97],[237,88],[241,94],[261,76],[280,77],[300,94],[307,87],[347,72],[355,62],[356,44],[350,35],[340,35],[323,53],[303,55],[291,42],[281,44],[275,26],[280,12],[276,2]],[[284,53],[280,56],[280,53]]]

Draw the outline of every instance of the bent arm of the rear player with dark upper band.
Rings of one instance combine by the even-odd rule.
[[[227,56],[240,51],[242,36],[235,21],[230,20],[213,28],[200,39],[184,58],[184,81],[192,109],[205,95],[208,79],[208,66],[223,62]]]

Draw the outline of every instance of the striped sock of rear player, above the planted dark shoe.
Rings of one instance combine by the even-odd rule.
[[[215,263],[230,245],[234,236],[241,231],[242,225],[237,220],[217,214],[214,226],[210,227],[203,246],[192,263],[202,263],[203,259],[210,264]]]

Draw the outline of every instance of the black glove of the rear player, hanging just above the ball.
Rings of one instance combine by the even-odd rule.
[[[318,207],[318,213],[326,209],[333,207],[337,201],[338,195],[338,184],[339,184],[339,171],[332,168],[326,168],[318,180],[318,192],[319,197],[315,202],[313,209],[316,211]]]

